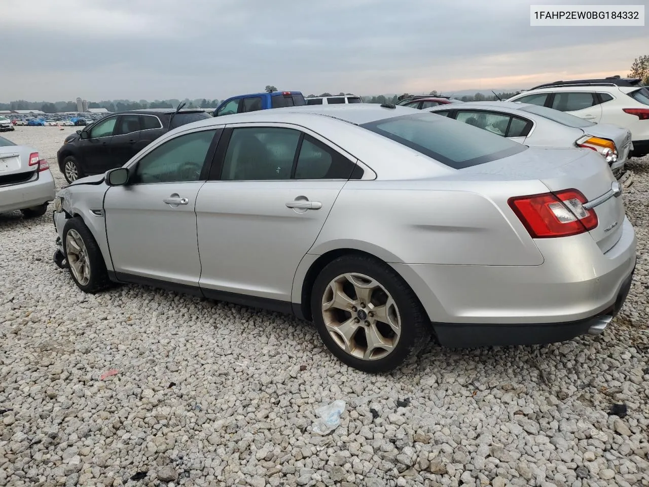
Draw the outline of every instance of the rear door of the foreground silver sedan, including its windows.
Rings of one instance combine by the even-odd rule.
[[[227,128],[196,202],[204,295],[289,303],[295,270],[355,166],[292,125]]]

